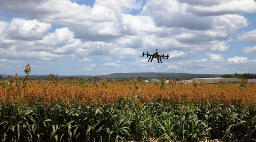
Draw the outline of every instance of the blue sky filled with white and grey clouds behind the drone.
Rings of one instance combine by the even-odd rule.
[[[148,63],[143,51],[169,54]],[[254,0],[1,0],[0,74],[256,73]]]

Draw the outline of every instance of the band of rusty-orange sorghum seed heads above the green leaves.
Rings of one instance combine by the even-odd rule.
[[[99,103],[114,103],[121,97],[134,98],[140,93],[140,103],[150,103],[152,101],[178,103],[214,103],[224,106],[237,105],[241,107],[255,107],[256,89],[248,86],[241,89],[238,85],[177,85],[167,86],[159,89],[159,85],[154,84],[129,84],[108,83],[108,87],[93,87],[93,84],[86,84],[83,87],[73,84],[59,84],[44,86],[32,83],[27,86],[27,91],[21,91],[18,87],[6,87],[0,90],[1,104],[12,104],[15,106],[27,105],[29,102],[40,102],[44,106],[56,105],[58,103],[72,104],[80,106],[91,106]]]

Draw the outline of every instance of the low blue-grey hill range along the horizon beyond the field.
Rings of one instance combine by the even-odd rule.
[[[191,73],[175,73],[175,72],[133,72],[133,73],[112,73],[108,75],[100,75],[100,78],[106,78],[107,76],[109,78],[131,78],[131,77],[143,77],[143,78],[157,78],[160,77],[161,75],[164,75],[165,78],[171,78],[171,77],[184,77],[184,78],[191,78],[191,77],[219,77],[222,74],[191,74]],[[4,75],[2,75],[4,76]],[[7,76],[7,75],[6,75]],[[14,75],[12,75],[14,76]],[[29,75],[32,76],[33,79],[37,78],[47,78],[48,75]],[[70,76],[65,76],[65,75],[59,75],[59,78],[68,78],[68,77],[76,77],[77,75],[70,75]],[[22,77],[20,75],[20,77]],[[81,78],[81,75],[78,75],[79,78]],[[84,78],[93,78],[94,76],[91,75],[84,75]]]

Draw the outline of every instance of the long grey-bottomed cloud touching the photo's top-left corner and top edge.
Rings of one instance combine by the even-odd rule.
[[[90,7],[69,0],[2,0],[0,5],[8,12],[22,13],[30,18],[38,18],[61,25],[90,26],[93,22],[116,20],[115,12],[105,6],[94,4],[93,7]]]

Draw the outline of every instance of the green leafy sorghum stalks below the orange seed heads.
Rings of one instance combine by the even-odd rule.
[[[0,106],[2,141],[253,141],[256,110],[222,104],[117,101],[97,107]]]

